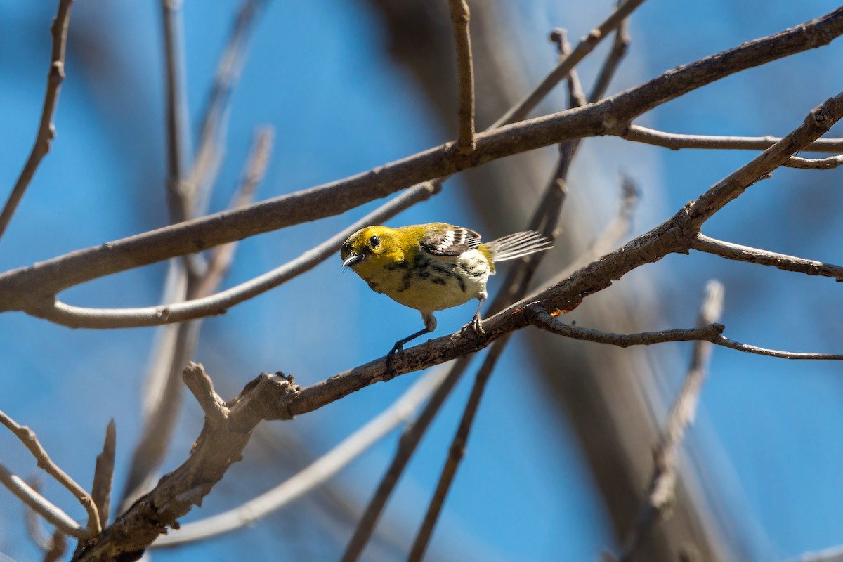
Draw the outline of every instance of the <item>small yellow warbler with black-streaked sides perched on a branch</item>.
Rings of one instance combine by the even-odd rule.
[[[343,267],[350,267],[374,292],[421,313],[424,329],[398,340],[388,358],[404,344],[436,329],[433,313],[476,298],[471,325],[481,331],[481,308],[488,296],[486,281],[495,263],[550,249],[540,233],[510,234],[485,244],[480,234],[445,222],[407,227],[365,227],[342,244]]]

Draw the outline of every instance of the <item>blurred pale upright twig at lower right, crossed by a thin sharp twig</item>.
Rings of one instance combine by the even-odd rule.
[[[697,319],[698,327],[720,320],[723,292],[724,288],[720,281],[708,282],[706,296],[703,298]],[[679,447],[685,437],[685,431],[694,420],[702,384],[706,380],[710,356],[711,343],[704,340],[696,341],[690,367],[685,375],[685,383],[670,408],[662,434],[652,452],[653,467],[650,482],[647,484],[647,495],[638,510],[635,524],[626,536],[620,562],[629,562],[636,555],[652,527],[659,518],[663,517],[674,501]]]

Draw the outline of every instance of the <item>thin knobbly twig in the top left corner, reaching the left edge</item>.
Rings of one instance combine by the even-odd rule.
[[[73,0],[60,0],[58,13],[53,19],[52,51],[50,56],[50,72],[47,73],[47,89],[44,94],[44,109],[41,110],[41,120],[38,125],[38,133],[35,135],[35,145],[30,151],[29,158],[26,158],[24,169],[21,170],[17,181],[14,182],[12,193],[0,212],[0,238],[6,232],[8,223],[11,222],[14,211],[17,210],[20,200],[24,197],[26,188],[30,186],[35,171],[38,169],[41,160],[50,152],[53,138],[56,136],[56,126],[53,125],[53,115],[56,115],[58,105],[58,94],[64,82],[64,56],[67,51],[67,26],[70,24],[70,5]]]

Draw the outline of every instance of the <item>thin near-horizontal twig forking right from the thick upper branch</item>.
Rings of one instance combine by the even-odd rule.
[[[711,135],[680,135],[647,129],[640,125],[631,125],[620,134],[627,141],[644,142],[657,147],[679,150],[681,148],[702,149],[734,149],[734,150],[766,150],[776,142],[781,141],[778,136],[711,136]],[[843,152],[843,138],[821,138],[803,148],[811,153],[840,153]]]

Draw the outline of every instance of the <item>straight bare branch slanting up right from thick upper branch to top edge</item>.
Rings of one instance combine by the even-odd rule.
[[[513,109],[507,111],[506,115],[503,115],[497,120],[495,126],[503,126],[523,120],[550,93],[550,90],[556,88],[556,84],[560,83],[568,75],[568,72],[571,72],[574,67],[577,67],[577,64],[588,56],[606,35],[617,29],[642,3],[644,3],[644,0],[626,0],[626,2],[619,4],[618,8],[615,9],[615,12],[609,18],[592,29],[591,33],[583,37],[571,55],[566,56],[564,61],[560,61],[556,65],[556,68],[550,71],[550,74],[527,97],[520,101]]]

